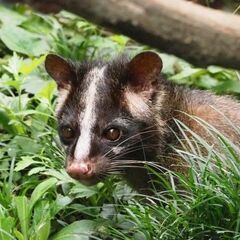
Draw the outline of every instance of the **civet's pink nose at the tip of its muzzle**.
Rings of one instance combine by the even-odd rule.
[[[67,173],[77,180],[85,180],[93,177],[93,166],[89,162],[72,161],[67,166]]]

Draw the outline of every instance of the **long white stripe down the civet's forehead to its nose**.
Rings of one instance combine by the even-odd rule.
[[[90,85],[85,92],[85,110],[82,111],[80,119],[80,137],[77,141],[74,158],[77,161],[84,160],[89,156],[91,147],[92,128],[96,123],[96,96],[97,88],[104,77],[105,67],[93,68],[86,76]]]

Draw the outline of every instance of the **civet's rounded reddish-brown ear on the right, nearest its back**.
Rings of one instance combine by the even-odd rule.
[[[162,60],[157,53],[142,52],[128,64],[128,85],[135,92],[152,92],[156,88],[161,70]]]

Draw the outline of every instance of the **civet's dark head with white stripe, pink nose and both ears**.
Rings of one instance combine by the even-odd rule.
[[[59,136],[71,177],[92,184],[148,160],[154,146],[151,106],[162,69],[156,53],[108,63],[76,63],[49,54],[45,66],[58,86]]]

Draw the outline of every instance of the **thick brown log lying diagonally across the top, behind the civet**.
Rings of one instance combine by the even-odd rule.
[[[240,17],[183,0],[20,0],[66,9],[195,65],[240,69]]]

